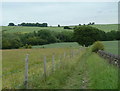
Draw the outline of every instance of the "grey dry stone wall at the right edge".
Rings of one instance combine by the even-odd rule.
[[[116,65],[117,67],[120,67],[120,56],[114,55],[108,52],[105,52],[103,50],[99,50],[98,54],[102,56],[105,59],[108,59],[110,64]]]

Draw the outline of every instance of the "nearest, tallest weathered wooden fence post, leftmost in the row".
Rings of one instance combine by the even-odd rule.
[[[28,54],[25,58],[25,80],[24,80],[24,86],[27,89],[28,88]]]

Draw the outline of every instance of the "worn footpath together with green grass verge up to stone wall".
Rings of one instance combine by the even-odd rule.
[[[80,59],[65,89],[117,89],[118,68],[95,53],[86,52]]]

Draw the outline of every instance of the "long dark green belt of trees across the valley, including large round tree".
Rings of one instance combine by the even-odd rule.
[[[42,29],[31,33],[2,33],[2,49],[27,48],[60,42],[78,42],[82,46],[92,45],[95,41],[120,40],[120,31],[104,32],[97,28],[82,25],[74,31],[50,31]]]

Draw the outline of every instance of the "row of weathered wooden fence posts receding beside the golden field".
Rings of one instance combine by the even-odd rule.
[[[57,62],[58,65],[56,65],[56,67],[61,69],[64,66],[63,65],[63,60],[65,60],[65,59],[69,60],[69,58],[71,60],[72,58],[74,58],[75,55],[78,55],[79,53],[80,53],[79,50],[76,50],[76,51],[71,50],[69,53],[64,52],[63,54],[60,54],[58,62]],[[25,74],[24,74],[24,84],[23,84],[26,89],[28,89],[28,87],[29,87],[28,86],[28,75],[29,75],[28,74],[28,63],[29,63],[28,56],[29,55],[27,54],[26,58],[25,58]],[[47,57],[44,56],[44,60],[43,60],[43,78],[45,78],[45,80],[47,78],[47,60],[46,59],[47,59]],[[52,70],[52,72],[54,72],[55,69],[56,69],[55,60],[56,60],[55,59],[55,54],[53,53],[52,62],[51,62],[51,70]],[[16,87],[18,88],[20,86],[16,86]]]

